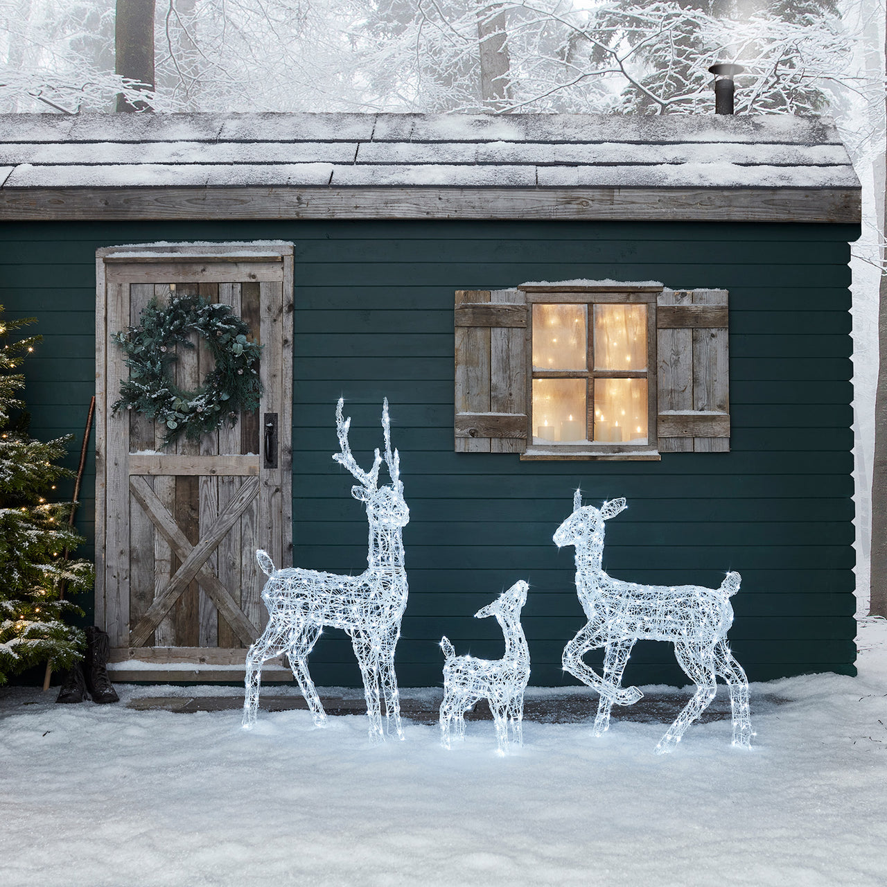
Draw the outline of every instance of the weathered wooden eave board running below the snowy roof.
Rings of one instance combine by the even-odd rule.
[[[483,200],[478,197],[483,195]],[[0,188],[0,221],[548,219],[860,224],[860,188]]]

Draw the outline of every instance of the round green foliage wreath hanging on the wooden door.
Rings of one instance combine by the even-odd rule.
[[[174,346],[194,347],[189,341],[192,332],[207,341],[216,365],[200,390],[184,391],[169,368],[176,361]],[[164,446],[183,432],[189,440],[198,440],[225,421],[234,425],[241,410],[255,410],[263,390],[258,373],[262,346],[247,341],[248,334],[249,327],[227,305],[172,291],[167,305],[152,299],[138,326],[113,336],[126,352],[130,368],[114,412],[126,407],[162,422]]]

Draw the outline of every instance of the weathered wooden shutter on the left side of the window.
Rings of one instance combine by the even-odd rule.
[[[527,448],[526,296],[456,291],[456,451]]]

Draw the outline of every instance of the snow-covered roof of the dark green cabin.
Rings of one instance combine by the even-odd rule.
[[[200,189],[203,202],[234,189],[227,217],[242,215],[236,189],[261,189],[271,200],[268,216],[292,215],[285,210],[293,207],[304,216],[306,200],[318,215],[342,216],[349,200],[369,201],[369,192],[386,190],[401,216],[414,217],[459,215],[454,208],[476,204],[476,192],[485,189],[511,192],[514,216],[592,217],[594,207],[586,203],[583,216],[577,205],[585,198],[597,208],[609,202],[608,217],[624,218],[644,214],[649,189],[695,189],[692,204],[682,197],[696,215],[679,217],[702,218],[718,208],[733,208],[732,218],[740,217],[737,210],[776,217],[779,210],[768,216],[754,206],[751,192],[804,189],[808,215],[818,214],[808,220],[856,221],[860,183],[831,122],[789,115],[0,115],[0,217],[37,217],[35,190],[50,202],[51,192],[67,192],[67,205],[82,212],[87,189],[133,190],[145,207],[141,217],[161,217],[156,201],[155,215],[146,215],[145,200],[158,189]],[[441,190],[448,195],[436,206],[429,198]],[[810,193],[823,191],[818,199]],[[334,206],[323,192],[345,196]],[[572,199],[568,216],[557,211],[557,192]],[[22,202],[25,193],[30,203]],[[520,210],[516,194],[530,198]],[[613,208],[614,198],[621,209]],[[374,200],[378,205],[378,193]],[[377,216],[395,216],[393,204]],[[838,208],[843,215],[834,217]],[[101,201],[94,210],[105,217],[122,212]],[[129,210],[132,217],[131,202]],[[491,206],[483,216],[475,206],[472,217],[508,214]]]

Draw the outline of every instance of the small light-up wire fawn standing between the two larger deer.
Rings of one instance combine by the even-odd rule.
[[[450,726],[455,720],[457,738],[465,737],[465,712],[480,699],[490,703],[496,722],[498,753],[508,751],[508,726],[518,745],[523,742],[523,691],[530,680],[530,648],[521,626],[521,609],[527,602],[528,585],[515,582],[497,600],[479,609],[476,619],[496,616],[505,636],[505,655],[501,659],[475,659],[457,656],[450,640],[441,638],[446,656],[443,665],[443,703],[441,703],[441,742],[450,748]]]

